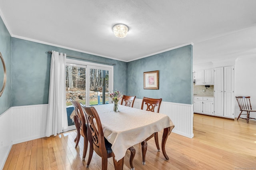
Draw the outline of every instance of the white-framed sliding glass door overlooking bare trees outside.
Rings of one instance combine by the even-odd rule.
[[[108,92],[113,90],[113,66],[67,59],[66,105],[68,126],[74,125],[70,99],[83,105],[108,104]],[[73,113],[73,114],[72,114]]]

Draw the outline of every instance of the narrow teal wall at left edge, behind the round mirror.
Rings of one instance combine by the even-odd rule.
[[[0,18],[0,52],[4,58],[6,65],[6,86],[4,93],[0,97],[0,115],[11,107],[11,36]],[[2,65],[2,62],[0,61]],[[1,73],[2,74],[2,73]],[[2,78],[2,77],[1,77]],[[2,89],[2,80],[0,83],[0,89]]]

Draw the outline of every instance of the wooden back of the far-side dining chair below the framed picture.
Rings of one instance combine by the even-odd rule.
[[[159,113],[160,105],[162,103],[162,99],[152,99],[148,97],[143,97],[141,109],[143,110],[144,105],[147,107],[146,111],[155,112],[155,107],[157,107],[157,113]]]

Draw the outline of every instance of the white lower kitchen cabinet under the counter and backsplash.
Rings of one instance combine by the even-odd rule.
[[[213,115],[214,97],[194,97],[194,112]]]

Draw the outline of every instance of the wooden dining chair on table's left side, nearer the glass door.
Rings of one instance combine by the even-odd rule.
[[[77,130],[77,136],[76,136],[76,146],[78,146],[80,136],[82,135],[84,137],[84,152],[83,152],[83,158],[82,160],[85,160],[87,148],[88,148],[88,137],[87,137],[87,123],[86,119],[84,117],[84,111],[81,107],[81,105],[78,103],[78,101],[70,100],[72,105],[75,108],[76,117],[74,117],[74,122],[76,125]]]

